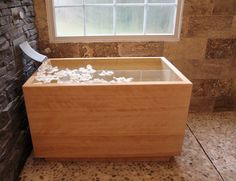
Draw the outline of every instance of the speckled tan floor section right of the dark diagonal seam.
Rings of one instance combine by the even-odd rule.
[[[225,181],[236,180],[236,113],[191,114],[188,125]]]

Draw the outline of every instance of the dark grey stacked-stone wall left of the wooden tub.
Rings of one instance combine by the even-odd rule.
[[[32,149],[21,87],[37,65],[18,45],[36,39],[32,1],[0,0],[0,180],[16,180]]]

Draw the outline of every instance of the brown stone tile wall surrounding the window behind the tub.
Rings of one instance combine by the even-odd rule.
[[[49,57],[165,56],[192,82],[190,110],[236,110],[236,0],[185,0],[179,42],[49,43],[45,0],[34,0]]]

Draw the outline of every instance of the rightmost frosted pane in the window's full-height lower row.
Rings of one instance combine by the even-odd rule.
[[[175,6],[149,6],[146,33],[169,33],[174,31]]]

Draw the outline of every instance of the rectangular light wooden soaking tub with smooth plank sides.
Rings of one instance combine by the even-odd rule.
[[[49,59],[92,65],[128,83],[24,84],[35,157],[161,159],[180,155],[192,83],[164,57]]]

